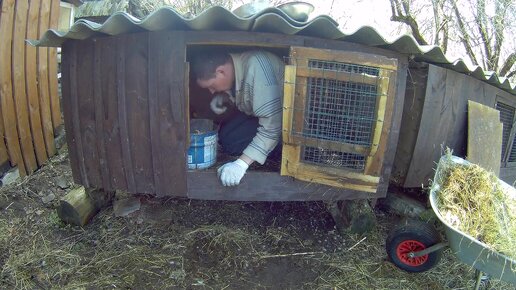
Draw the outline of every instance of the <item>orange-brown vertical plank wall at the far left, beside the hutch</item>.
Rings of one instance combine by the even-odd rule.
[[[0,165],[10,162],[22,176],[55,154],[54,130],[62,125],[56,48],[35,48],[57,28],[59,0],[0,1]]]

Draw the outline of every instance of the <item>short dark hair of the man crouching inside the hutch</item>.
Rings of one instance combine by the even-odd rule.
[[[231,60],[229,53],[222,51],[206,51],[194,56],[191,69],[197,79],[208,80],[215,76],[217,67]]]

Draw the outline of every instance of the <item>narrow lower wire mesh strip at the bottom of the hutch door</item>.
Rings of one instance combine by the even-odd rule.
[[[302,160],[308,163],[315,163],[317,165],[327,165],[337,168],[344,167],[357,170],[363,170],[365,166],[364,155],[315,147],[304,147]]]

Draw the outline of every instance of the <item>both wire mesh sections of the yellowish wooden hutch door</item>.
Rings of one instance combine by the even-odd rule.
[[[300,64],[303,62],[296,61]],[[292,132],[305,138],[371,146],[376,124],[380,69],[345,62],[308,60],[306,82],[296,91],[305,92],[304,101],[296,99]],[[299,66],[298,66],[299,68]],[[313,72],[313,73],[312,73]],[[300,113],[303,112],[303,113]],[[303,124],[296,124],[299,122]],[[363,170],[363,154],[329,150],[321,146],[302,146],[301,160],[307,163]]]

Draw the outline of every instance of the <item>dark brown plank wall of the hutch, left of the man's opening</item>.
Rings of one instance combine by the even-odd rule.
[[[108,191],[186,196],[183,33],[67,41],[62,61],[75,182]]]

